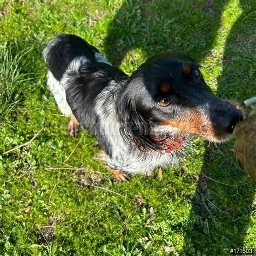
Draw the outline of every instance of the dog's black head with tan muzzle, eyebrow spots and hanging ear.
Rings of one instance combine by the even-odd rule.
[[[163,148],[158,134],[174,140],[196,134],[223,142],[242,119],[234,104],[213,94],[199,65],[176,52],[139,66],[117,97],[116,110],[123,136],[155,150]]]

